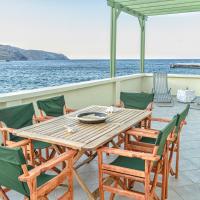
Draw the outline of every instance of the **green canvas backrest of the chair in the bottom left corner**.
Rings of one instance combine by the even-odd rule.
[[[23,174],[23,164],[26,164],[26,161],[21,148],[0,147],[0,186],[29,196],[27,184],[18,180]]]

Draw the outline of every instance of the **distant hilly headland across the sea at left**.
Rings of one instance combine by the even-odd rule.
[[[68,60],[64,54],[41,50],[25,50],[9,45],[0,45],[0,60]]]

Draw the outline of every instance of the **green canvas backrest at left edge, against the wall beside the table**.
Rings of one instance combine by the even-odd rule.
[[[33,124],[35,114],[33,104],[25,104],[0,109],[0,121],[4,122],[9,128],[23,128]],[[11,134],[10,139],[14,136]]]

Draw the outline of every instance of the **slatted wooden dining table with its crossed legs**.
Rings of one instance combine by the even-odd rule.
[[[116,146],[114,138],[151,115],[151,112],[147,110],[125,108],[117,108],[113,112],[108,112],[108,110],[107,106],[93,105],[22,129],[14,129],[12,133],[23,138],[51,143],[57,151],[61,149],[60,147],[77,150],[73,169],[75,178],[87,193],[88,198],[96,199],[97,192],[92,193],[89,190],[77,169],[92,161],[97,155],[98,148],[109,142]],[[85,124],[78,120],[79,113],[93,111],[107,113],[107,120],[100,124]],[[73,131],[69,131],[68,127]],[[83,155],[87,155],[87,159],[79,163]]]

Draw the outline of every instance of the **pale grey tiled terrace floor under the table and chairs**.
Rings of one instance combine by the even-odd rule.
[[[177,112],[182,111],[185,104],[175,103],[174,107],[157,107],[154,106],[155,117],[172,117]],[[174,177],[169,179],[169,200],[199,200],[200,196],[200,110],[191,109],[187,118],[187,126],[184,127],[181,137],[181,158],[180,158],[180,175],[176,180]],[[157,127],[157,124],[154,124]],[[108,157],[112,159],[112,157]],[[79,174],[93,191],[98,186],[97,159],[93,160],[79,169]],[[139,186],[138,186],[139,187]],[[49,195],[49,199],[56,199],[59,194],[63,193],[65,188],[59,187]],[[160,189],[158,189],[159,192]],[[23,196],[16,192],[9,192],[11,200],[23,199]],[[108,194],[105,194],[109,199]],[[74,183],[74,199],[86,200],[86,194],[80,188],[78,183]],[[116,197],[115,199],[127,199]]]

